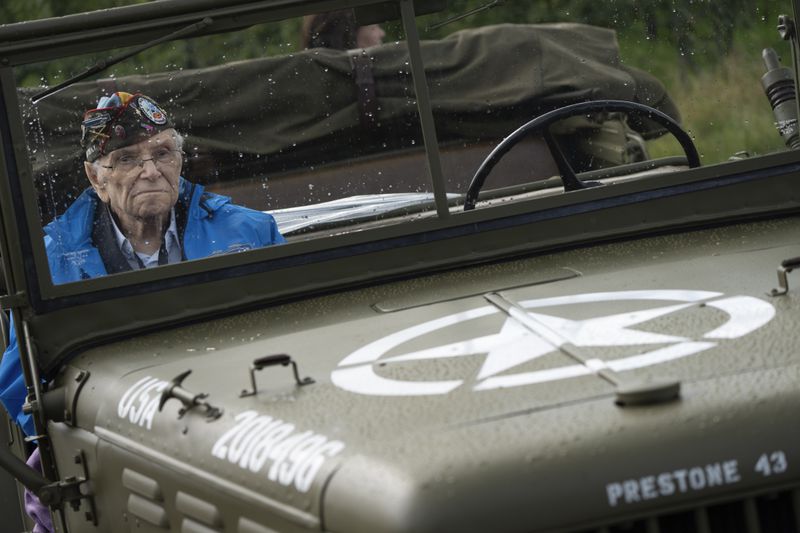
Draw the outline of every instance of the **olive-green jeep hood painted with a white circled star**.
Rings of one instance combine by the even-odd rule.
[[[89,372],[73,423],[326,531],[561,527],[573,498],[588,502],[566,513],[577,527],[716,497],[800,442],[800,424],[772,423],[800,401],[796,296],[767,295],[797,231],[790,218],[608,244],[96,348],[64,374]],[[314,383],[291,365],[251,371],[268,355]],[[181,414],[177,397],[158,410],[187,370],[182,390],[220,416]],[[620,386],[670,381],[677,398],[615,403]],[[661,474],[671,492],[641,482]]]

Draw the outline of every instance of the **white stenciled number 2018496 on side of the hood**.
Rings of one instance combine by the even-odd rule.
[[[295,425],[271,416],[245,411],[236,424],[217,439],[211,454],[267,479],[307,492],[325,461],[344,450],[313,431],[297,432]]]

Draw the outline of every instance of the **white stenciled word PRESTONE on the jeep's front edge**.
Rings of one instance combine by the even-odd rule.
[[[757,464],[756,470],[759,468],[763,468],[762,462]],[[616,507],[620,504],[638,503],[673,494],[732,485],[741,479],[738,462],[731,459],[608,483],[606,498],[611,507]]]

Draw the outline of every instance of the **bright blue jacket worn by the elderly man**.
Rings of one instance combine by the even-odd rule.
[[[230,198],[205,192],[183,178],[176,210],[183,223],[178,232],[184,259],[241,252],[285,242],[272,215],[230,203]],[[100,200],[87,189],[60,217],[45,228],[45,249],[53,283],[105,276],[108,270],[92,240]],[[19,362],[15,328],[0,361],[0,401],[27,435],[34,432],[30,415],[22,413],[26,388]]]

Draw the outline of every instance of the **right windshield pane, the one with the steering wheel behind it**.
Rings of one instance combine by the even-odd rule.
[[[490,150],[516,128],[588,100],[666,114],[688,133],[704,166],[786,150],[788,135],[776,130],[760,81],[765,48],[792,66],[776,30],[784,12],[791,6],[780,1],[456,1],[446,13],[420,18],[424,36],[448,43],[427,62],[448,190],[466,191]],[[791,72],[770,81],[781,76]],[[579,114],[554,123],[550,134],[578,173],[628,174],[635,163],[658,160],[672,170],[673,158],[684,156],[663,124],[627,112]],[[549,185],[546,178],[559,173],[551,152],[542,135],[522,137],[482,192]]]

